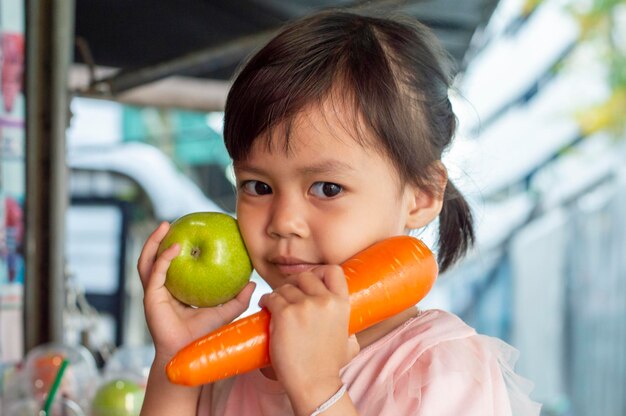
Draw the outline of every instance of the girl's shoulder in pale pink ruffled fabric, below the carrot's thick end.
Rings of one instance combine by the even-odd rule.
[[[364,348],[344,381],[356,386],[351,395],[384,403],[381,409],[409,406],[396,414],[448,414],[458,402],[464,410],[456,414],[538,415],[539,405],[529,398],[532,383],[513,370],[517,356],[515,348],[477,334],[456,315],[428,310]]]

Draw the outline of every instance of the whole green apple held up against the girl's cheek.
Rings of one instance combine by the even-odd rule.
[[[252,262],[237,220],[219,212],[194,212],[170,225],[158,254],[172,244],[180,253],[172,260],[165,287],[183,303],[220,305],[237,296],[250,280]]]

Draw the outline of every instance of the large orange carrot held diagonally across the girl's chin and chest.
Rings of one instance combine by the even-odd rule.
[[[374,244],[341,267],[350,292],[350,334],[416,305],[438,273],[430,250],[408,236]],[[263,309],[193,341],[168,363],[169,380],[197,386],[268,366],[269,321]]]

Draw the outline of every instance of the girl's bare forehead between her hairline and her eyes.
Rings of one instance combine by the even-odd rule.
[[[365,130],[355,131],[351,113],[313,106],[255,140],[235,172],[289,180],[326,177],[337,181],[385,178],[398,174],[389,158]]]

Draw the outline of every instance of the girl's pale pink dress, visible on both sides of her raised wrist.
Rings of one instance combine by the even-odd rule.
[[[517,351],[440,310],[422,312],[364,348],[341,372],[360,415],[539,415]],[[279,382],[252,371],[203,387],[200,416],[293,415]]]

